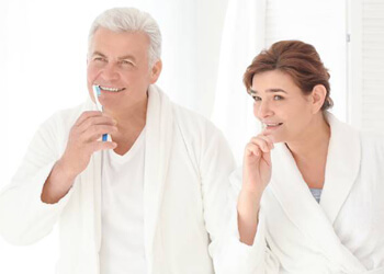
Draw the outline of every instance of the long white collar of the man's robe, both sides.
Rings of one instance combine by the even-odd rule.
[[[87,105],[90,110],[95,110],[90,100]],[[168,173],[172,136],[172,103],[158,87],[150,85],[148,89],[144,172],[144,240],[148,273],[151,273],[154,267],[154,243]],[[88,168],[79,178],[84,246],[94,250],[97,260],[102,237],[101,170],[102,153],[99,151],[93,153]]]

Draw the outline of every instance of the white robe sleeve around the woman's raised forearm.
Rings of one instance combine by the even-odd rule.
[[[241,169],[230,175],[224,229],[221,239],[213,242],[210,251],[217,274],[276,274],[279,261],[271,252],[266,240],[266,222],[262,205],[259,224],[252,246],[240,242],[237,221],[237,198],[241,189]]]

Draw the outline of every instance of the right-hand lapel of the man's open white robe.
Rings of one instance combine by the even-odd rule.
[[[148,273],[151,273],[154,266],[154,240],[172,146],[173,116],[171,102],[156,85],[149,88],[148,96],[144,174],[144,227]]]

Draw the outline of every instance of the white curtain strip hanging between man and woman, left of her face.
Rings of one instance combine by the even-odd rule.
[[[266,0],[229,0],[223,30],[213,122],[224,132],[238,164],[246,142],[260,125],[242,75],[264,48]]]

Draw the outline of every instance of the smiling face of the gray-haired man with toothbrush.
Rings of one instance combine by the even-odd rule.
[[[144,33],[97,30],[88,55],[87,85],[93,101],[92,85],[100,85],[104,111],[123,111],[146,100],[148,85],[161,70],[158,64],[149,69],[148,46]]]

